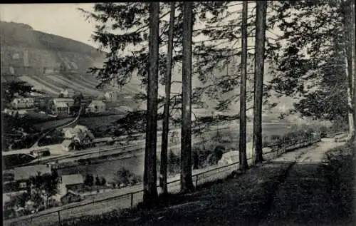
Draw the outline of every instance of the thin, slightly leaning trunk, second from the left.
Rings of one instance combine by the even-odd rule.
[[[172,50],[173,50],[173,29],[174,29],[174,11],[175,3],[171,2],[171,12],[169,16],[169,34],[168,34],[168,50],[167,50],[167,71],[165,79],[165,98],[163,110],[163,125],[162,125],[162,146],[161,146],[161,165],[159,175],[159,186],[162,188],[162,193],[167,194],[167,153],[168,153],[168,133],[169,133],[169,103],[171,96],[171,78],[172,78]]]

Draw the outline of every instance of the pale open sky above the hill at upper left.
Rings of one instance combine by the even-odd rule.
[[[94,24],[85,21],[78,7],[93,9],[94,4],[0,4],[0,20],[28,24],[34,30],[56,34],[95,46],[90,40]]]

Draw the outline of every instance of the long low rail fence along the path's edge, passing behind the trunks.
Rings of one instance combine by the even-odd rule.
[[[288,151],[318,143],[320,142],[320,140],[321,138],[319,135],[317,137],[293,139],[282,143],[268,145],[264,148],[270,148],[271,150],[263,153],[263,157],[265,158],[265,160],[271,160]],[[252,158],[248,158],[248,164],[252,165]],[[193,173],[192,179],[195,182],[195,186],[202,185],[206,182],[226,178],[229,174],[231,174],[233,170],[237,170],[238,168],[239,161],[231,163],[229,165],[209,168],[199,173]],[[173,178],[173,180],[171,179],[167,182],[169,192],[179,192],[179,181],[179,179]],[[158,183],[157,187],[159,187]],[[83,217],[86,215],[95,215],[100,213],[99,210],[102,210],[101,212],[104,213],[110,212],[112,210],[117,210],[117,208],[124,209],[127,207],[133,207],[137,205],[138,202],[142,201],[142,194],[142,185],[135,185],[134,187],[132,187],[132,191],[126,192],[121,195],[105,197],[100,200],[84,200],[81,203],[73,203],[71,205],[69,204],[62,207],[55,207],[50,212],[38,213],[35,215],[26,215],[23,217],[16,217],[13,219],[5,220],[4,225],[48,225],[49,223],[53,223],[53,219],[55,219],[54,217],[58,219],[57,222],[63,222],[63,220],[72,220],[73,218]],[[119,200],[120,202],[117,202]],[[93,207],[94,205],[98,205],[98,207]],[[83,209],[80,211],[80,208]],[[77,209],[78,212],[75,211],[75,209]],[[47,219],[43,219],[43,217],[46,217]],[[40,218],[42,218],[42,220]],[[39,222],[35,223],[36,220],[38,220]]]

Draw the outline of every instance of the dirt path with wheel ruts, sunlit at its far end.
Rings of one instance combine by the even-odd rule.
[[[336,145],[324,139],[297,160],[258,225],[353,225],[338,211],[340,203],[333,199],[335,191],[323,165],[325,152]]]

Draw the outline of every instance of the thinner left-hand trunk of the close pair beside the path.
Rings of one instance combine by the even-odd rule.
[[[242,5],[241,48],[239,168],[245,171],[248,168],[246,157],[247,1]]]

